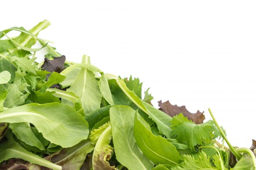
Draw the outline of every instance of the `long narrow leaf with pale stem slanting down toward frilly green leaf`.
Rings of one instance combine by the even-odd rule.
[[[123,90],[123,92],[132,100],[132,102],[139,107],[142,111],[148,114],[148,117],[152,119],[156,124],[159,129],[159,133],[164,134],[166,137],[171,138],[171,128],[170,126],[170,121],[172,118],[168,115],[166,115],[164,112],[154,108],[152,105],[144,102],[141,100],[136,94],[124,83],[124,80],[117,80],[117,84],[119,87]]]

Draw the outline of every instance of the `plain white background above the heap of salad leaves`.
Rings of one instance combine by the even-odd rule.
[[[106,73],[139,77],[159,100],[210,107],[231,144],[256,139],[256,1],[4,1],[0,30],[31,28],[58,52]],[[42,60],[42,57],[39,57]]]

